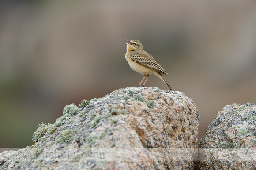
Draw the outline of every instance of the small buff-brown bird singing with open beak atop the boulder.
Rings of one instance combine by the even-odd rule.
[[[166,81],[166,79],[163,76],[163,74],[167,75],[168,73],[166,72],[165,69],[161,67],[161,65],[159,65],[155,61],[155,59],[152,57],[151,54],[148,54],[147,51],[143,50],[143,46],[139,42],[139,40],[127,40],[127,41],[128,43],[125,43],[127,45],[125,59],[130,65],[131,69],[144,75],[143,79],[139,83],[139,86],[147,76],[145,82],[142,85],[144,87],[149,75],[154,74],[158,76],[161,80],[163,80],[166,83],[166,85],[169,87],[169,89],[173,91],[172,87],[169,85],[169,83]]]

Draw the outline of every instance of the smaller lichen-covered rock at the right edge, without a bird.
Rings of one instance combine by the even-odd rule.
[[[199,168],[255,169],[256,105],[232,104],[218,112],[199,142]]]

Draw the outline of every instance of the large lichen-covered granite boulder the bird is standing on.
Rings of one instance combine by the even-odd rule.
[[[0,153],[0,168],[193,169],[194,152],[173,153],[197,147],[198,119],[181,92],[119,89],[68,105],[53,125],[38,127],[34,147]]]

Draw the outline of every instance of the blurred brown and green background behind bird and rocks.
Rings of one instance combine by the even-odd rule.
[[[201,115],[256,103],[256,1],[1,0],[0,148],[33,145],[65,105],[137,86],[124,58],[139,40]],[[168,89],[152,75],[146,87]]]

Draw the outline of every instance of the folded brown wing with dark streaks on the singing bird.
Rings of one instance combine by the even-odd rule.
[[[132,54],[130,55],[130,58],[132,59],[132,61],[135,61],[136,63],[143,65],[149,69],[155,70],[157,72],[162,72],[164,74],[168,74],[166,70],[161,67],[161,65],[159,65],[156,61],[152,60],[151,58],[143,57],[140,54]]]

